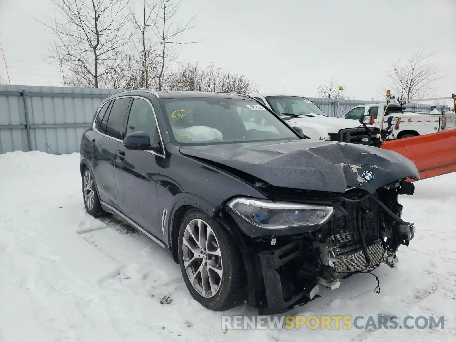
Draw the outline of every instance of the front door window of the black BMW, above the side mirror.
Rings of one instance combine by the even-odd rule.
[[[158,144],[160,141],[157,123],[150,104],[141,98],[134,98],[128,116],[126,135],[138,131],[147,133],[151,144]]]

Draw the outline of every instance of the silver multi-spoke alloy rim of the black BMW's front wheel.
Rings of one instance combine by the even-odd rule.
[[[193,288],[205,298],[216,295],[222,284],[222,254],[214,231],[205,221],[196,218],[187,224],[182,252]]]

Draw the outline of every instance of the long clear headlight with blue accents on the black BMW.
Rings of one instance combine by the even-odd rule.
[[[257,227],[284,229],[325,223],[334,209],[317,205],[235,198],[228,203],[241,218]]]

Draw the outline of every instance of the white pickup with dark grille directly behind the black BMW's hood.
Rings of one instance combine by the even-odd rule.
[[[359,124],[359,118],[358,123],[355,123],[350,119],[329,117],[308,98],[263,93],[252,93],[249,96],[279,114],[290,126],[301,128],[303,134],[311,139],[373,146],[381,144],[379,130],[374,125],[363,126]]]

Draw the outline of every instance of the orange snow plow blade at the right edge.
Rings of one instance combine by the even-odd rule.
[[[413,161],[422,179],[456,172],[456,130],[389,140],[381,148]]]

